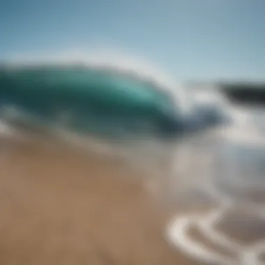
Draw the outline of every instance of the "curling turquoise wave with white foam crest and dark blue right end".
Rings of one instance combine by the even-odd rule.
[[[229,120],[228,105],[216,104],[216,97],[202,100],[162,74],[125,63],[10,63],[1,68],[1,80],[2,105],[77,130],[183,135]]]

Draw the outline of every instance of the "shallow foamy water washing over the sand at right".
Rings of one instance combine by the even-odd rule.
[[[207,264],[264,264],[259,256],[265,252],[265,109],[243,111],[244,122],[216,130],[211,144],[203,137],[185,143],[192,153],[188,165],[208,156],[206,166],[199,162],[200,169],[191,171],[196,181],[190,181],[183,192],[185,202],[197,200],[191,196],[197,192],[206,198],[204,204],[214,202],[215,206],[203,214],[190,211],[178,215],[169,225],[167,236],[176,248]],[[188,178],[188,174],[182,177]],[[199,204],[198,200],[195,203]],[[194,227],[206,240],[192,239]],[[207,243],[214,243],[219,250],[209,248]],[[234,257],[223,255],[221,248],[232,251]]]

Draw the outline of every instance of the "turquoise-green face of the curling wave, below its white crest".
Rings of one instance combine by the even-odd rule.
[[[155,84],[106,69],[2,70],[0,93],[1,105],[19,109],[35,123],[102,135],[164,132],[179,114],[179,106]]]

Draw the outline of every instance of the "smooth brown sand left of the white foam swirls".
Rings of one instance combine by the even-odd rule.
[[[196,264],[122,160],[3,138],[0,167],[1,264]]]

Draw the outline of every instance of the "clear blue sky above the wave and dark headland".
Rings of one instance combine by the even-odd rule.
[[[265,0],[0,1],[0,59],[96,45],[180,80],[265,80]]]

